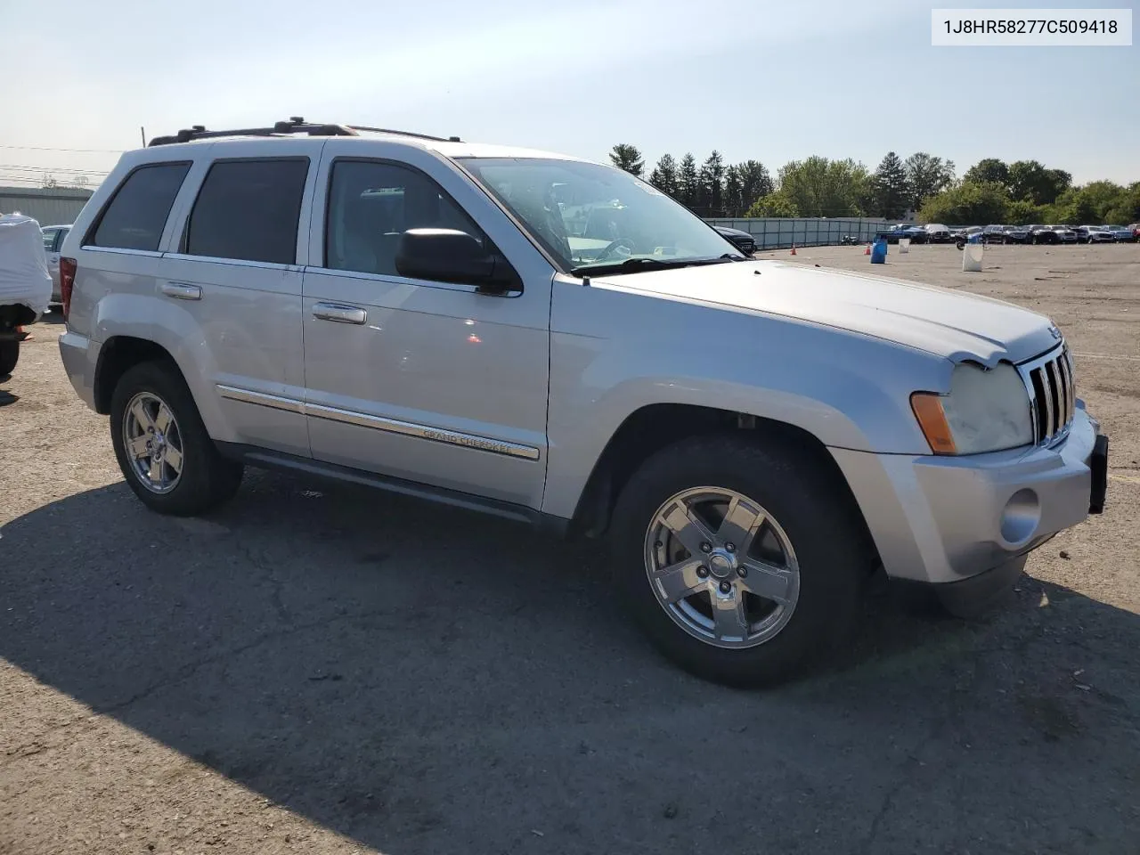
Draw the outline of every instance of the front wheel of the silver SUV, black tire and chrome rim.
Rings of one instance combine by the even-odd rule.
[[[618,498],[610,546],[617,589],[653,644],[690,673],[736,686],[788,679],[832,650],[854,624],[873,554],[853,499],[846,489],[837,489],[834,479],[792,446],[762,446],[751,435],[698,437],[645,461]],[[742,520],[752,519],[750,507],[766,520],[752,546],[743,538],[739,554],[727,540],[732,534],[719,528],[724,505],[717,519],[716,504],[701,504],[702,496],[717,490],[735,494]],[[692,503],[687,519],[697,514],[705,521],[703,531],[690,522],[677,537],[663,527],[665,515],[676,524],[678,500]],[[694,544],[694,535],[712,536],[711,543],[694,545],[708,557],[681,546],[681,539]],[[768,571],[756,569],[758,549]],[[748,578],[740,576],[744,561],[752,564]],[[681,589],[695,586],[694,593],[667,604],[669,598],[650,576],[678,564],[685,571],[671,578],[683,581]],[[782,569],[777,573],[774,568]],[[765,586],[781,592],[790,608],[757,597],[755,588]],[[743,632],[720,632],[714,603],[727,604],[726,611],[716,612],[728,616],[726,627],[739,620],[733,617],[740,613],[735,604],[744,604],[743,624],[736,624]]]

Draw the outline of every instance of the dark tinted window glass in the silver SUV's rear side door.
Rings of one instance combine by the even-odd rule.
[[[194,203],[186,252],[215,259],[296,262],[308,158],[219,161]]]

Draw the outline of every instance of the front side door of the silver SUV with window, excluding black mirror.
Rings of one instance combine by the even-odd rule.
[[[353,142],[325,148],[304,272],[312,456],[539,507],[552,268],[451,164],[394,142],[391,158],[360,160]],[[494,246],[522,291],[400,276],[400,234],[422,227]]]

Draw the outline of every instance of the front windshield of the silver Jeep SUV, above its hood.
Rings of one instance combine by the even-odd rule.
[[[463,165],[564,270],[743,258],[686,207],[619,169],[542,157],[467,157]]]

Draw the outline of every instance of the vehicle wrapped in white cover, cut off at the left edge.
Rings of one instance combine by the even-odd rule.
[[[0,215],[0,377],[16,367],[23,328],[47,311],[50,299],[40,223],[19,213]]]

